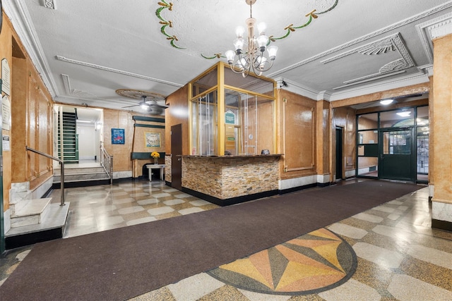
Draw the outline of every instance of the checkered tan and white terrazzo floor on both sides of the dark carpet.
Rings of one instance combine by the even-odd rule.
[[[65,238],[217,207],[160,181],[70,188],[66,200],[71,202],[71,209]],[[261,264],[258,259],[263,253],[259,252],[133,300],[452,300],[452,233],[430,228],[430,220],[428,190],[422,188],[303,235],[297,242],[264,251],[270,254],[268,258],[278,257],[275,250],[292,257],[292,264],[285,263],[291,269],[286,267],[279,276],[266,272],[280,268],[277,264]],[[330,241],[326,243],[327,240]],[[304,251],[299,252],[303,254],[295,254],[294,250],[299,249],[293,245],[297,244],[304,246]],[[327,245],[332,246],[333,252],[328,251]],[[347,245],[350,252],[344,252]],[[13,250],[1,259],[0,284],[30,248]],[[306,264],[310,260],[307,257],[314,258],[314,253],[321,256],[316,257],[316,263]],[[350,265],[351,259],[341,262],[345,256],[355,258],[355,267]],[[343,271],[343,283],[313,289],[314,282],[326,279],[320,281],[318,276],[328,274],[323,267],[323,272],[319,272],[319,263],[333,267],[335,275],[338,270]],[[234,284],[234,279],[242,280]],[[287,279],[301,283],[298,293],[280,295],[271,291],[277,289],[278,281]],[[262,288],[268,288],[268,293],[263,293]]]

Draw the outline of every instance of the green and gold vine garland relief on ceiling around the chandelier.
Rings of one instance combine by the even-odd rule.
[[[252,0],[249,0],[252,1]],[[253,3],[255,1],[252,1]],[[298,29],[307,27],[309,24],[311,24],[312,20],[319,18],[319,15],[322,15],[323,13],[328,13],[328,11],[332,11],[336,6],[338,6],[339,0],[335,0],[334,3],[327,8],[323,8],[326,6],[326,1],[323,0],[316,0],[316,5],[318,5],[319,7],[321,7],[321,9],[323,9],[322,11],[317,11],[317,9],[314,9],[308,13],[306,13],[304,15],[304,17],[306,17],[305,20],[295,20],[296,22],[290,23],[289,25],[287,25],[286,27],[284,27],[283,31],[285,32],[283,35],[277,37],[275,35],[270,35],[268,37],[268,39],[270,40],[270,42],[275,42],[279,39],[285,39],[287,37],[289,37],[290,33],[295,32]],[[162,16],[162,13],[165,13],[165,11],[174,11],[174,4],[172,4],[172,2],[167,2],[165,0],[161,0],[158,2],[159,8],[157,8],[157,10],[155,11],[155,16],[157,16],[157,18],[160,20],[159,23],[160,25],[162,25],[162,27],[160,27],[160,32],[162,32],[162,35],[164,35],[166,37],[167,40],[169,40],[169,44],[171,44],[172,47],[177,48],[177,49],[186,49],[186,47],[182,47],[180,46],[179,42],[180,40],[178,39],[176,34],[171,34],[169,33],[169,29],[173,28],[174,23],[177,22],[177,20],[167,20],[168,17],[174,17],[174,15],[169,15],[169,16]],[[317,7],[317,8],[319,8]],[[303,13],[300,13],[301,16],[303,16]],[[220,59],[220,58],[226,58],[225,54],[222,54],[221,51],[218,51],[217,53],[214,54],[200,54],[204,59]]]

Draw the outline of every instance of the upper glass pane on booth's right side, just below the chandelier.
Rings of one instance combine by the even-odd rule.
[[[252,75],[244,78],[241,74],[232,72],[229,66],[225,66],[225,85],[274,97],[273,82]]]

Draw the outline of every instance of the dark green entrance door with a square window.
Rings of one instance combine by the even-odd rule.
[[[379,178],[415,180],[415,139],[412,128],[381,130]]]

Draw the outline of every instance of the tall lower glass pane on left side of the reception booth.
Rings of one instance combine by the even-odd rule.
[[[192,155],[217,154],[217,91],[192,101]]]

